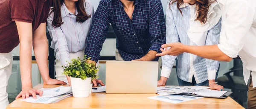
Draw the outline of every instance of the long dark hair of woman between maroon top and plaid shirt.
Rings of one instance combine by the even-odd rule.
[[[54,13],[53,15],[53,20],[52,20],[52,26],[53,27],[60,27],[63,22],[62,22],[62,17],[61,17],[61,6],[63,5],[64,0],[53,0],[52,3],[52,8],[50,14],[52,12]],[[76,2],[76,10],[78,14],[76,15],[76,21],[78,22],[84,22],[88,20],[91,15],[87,15],[85,11],[85,1],[84,0],[78,0]]]

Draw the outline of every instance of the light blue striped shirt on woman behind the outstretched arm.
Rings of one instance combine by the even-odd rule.
[[[178,10],[176,3],[174,3],[171,6],[169,6],[168,4],[166,8],[166,43],[181,42],[184,45],[197,45],[194,41],[192,41],[192,38],[189,38],[188,36],[188,31],[190,30],[190,27],[193,24],[193,22],[199,22],[194,21],[196,16],[195,8],[195,5],[190,6],[189,4],[183,3],[183,5],[180,7],[181,11],[183,12],[182,15],[180,14],[180,11]],[[214,9],[216,9],[216,7]],[[204,42],[204,45],[217,45],[219,43],[219,36],[221,32],[220,17],[221,16],[207,18],[209,20],[217,19],[217,21],[215,21],[215,24],[212,24],[212,28],[209,28],[209,30],[206,31],[205,29],[202,29],[201,33],[196,33],[203,34],[202,37],[204,39],[201,42]],[[212,23],[213,20],[209,22]],[[193,29],[197,30],[197,28]],[[161,76],[169,78],[172,66],[175,63],[176,58],[178,60],[177,76],[181,80],[192,82],[193,75],[195,77],[195,81],[197,84],[204,82],[207,79],[215,79],[215,74],[219,67],[219,61],[204,59],[200,56],[196,56],[189,53],[182,53],[178,56],[162,56],[163,67]]]

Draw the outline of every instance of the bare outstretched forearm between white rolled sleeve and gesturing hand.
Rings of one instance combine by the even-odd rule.
[[[205,46],[188,46],[184,45],[184,51],[203,58],[217,60],[217,61],[231,61],[232,58],[224,54],[218,45],[205,45]]]

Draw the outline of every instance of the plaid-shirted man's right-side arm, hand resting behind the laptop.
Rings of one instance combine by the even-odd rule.
[[[148,53],[140,59],[133,61],[154,61],[157,53],[160,53],[161,45],[165,44],[166,26],[163,14],[163,6],[160,0],[155,0],[152,3],[154,6],[151,8],[151,18],[149,19],[149,33],[151,36],[151,48]]]

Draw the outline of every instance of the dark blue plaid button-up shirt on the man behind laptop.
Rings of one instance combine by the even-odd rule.
[[[91,60],[99,60],[110,23],[116,34],[116,48],[125,61],[140,59],[149,50],[160,53],[161,45],[166,43],[161,0],[135,0],[134,3],[130,20],[119,0],[100,1],[84,51]]]

